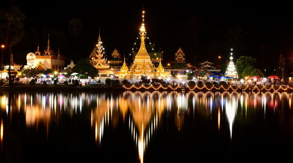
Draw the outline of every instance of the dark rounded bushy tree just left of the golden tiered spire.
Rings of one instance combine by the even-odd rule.
[[[99,73],[98,69],[96,69],[87,58],[81,59],[78,63],[72,68],[73,72],[84,74],[84,77],[88,76],[96,77]]]

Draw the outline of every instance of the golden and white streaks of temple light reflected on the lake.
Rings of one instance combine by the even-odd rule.
[[[165,128],[165,121],[173,121],[174,127],[180,132],[186,130],[185,125],[189,125],[186,123],[190,121],[185,119],[191,115],[215,119],[214,125],[219,133],[229,132],[232,141],[235,121],[255,117],[256,112],[261,112],[265,119],[268,111],[275,114],[284,101],[291,109],[292,93],[4,93],[1,94],[1,149],[3,139],[5,141],[5,125],[16,121],[14,116],[18,114],[24,115],[24,121],[19,123],[25,123],[26,128],[45,126],[47,139],[50,139],[49,133],[54,132],[50,131],[51,125],[62,125],[59,121],[64,117],[80,117],[88,121],[96,146],[100,148],[103,147],[104,132],[108,128],[117,128],[119,123],[128,126],[138,158],[143,162],[148,145],[151,145],[158,130]],[[175,119],[166,120],[163,118],[166,114],[174,114]],[[226,127],[229,130],[222,131]],[[167,130],[169,128],[167,126]]]

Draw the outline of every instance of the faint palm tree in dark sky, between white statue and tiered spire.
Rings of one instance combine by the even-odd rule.
[[[68,28],[69,34],[74,37],[73,40],[73,52],[75,47],[75,37],[81,35],[82,31],[82,21],[79,18],[72,18],[69,20],[69,28]]]

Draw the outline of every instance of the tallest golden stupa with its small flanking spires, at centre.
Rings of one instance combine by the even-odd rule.
[[[154,67],[153,63],[151,62],[151,58],[147,52],[145,46],[145,39],[146,39],[146,30],[144,28],[144,11],[142,11],[142,25],[140,27],[140,48],[138,53],[135,56],[132,66],[130,67],[129,77],[130,78],[139,78],[140,76],[148,76],[150,78],[157,78],[158,75],[162,78],[167,78],[170,76],[170,72],[165,72],[162,65],[158,71],[157,68]],[[124,73],[124,69],[121,67],[119,77],[120,78],[127,78],[126,73]]]

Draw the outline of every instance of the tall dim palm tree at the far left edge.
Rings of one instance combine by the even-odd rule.
[[[8,9],[3,9],[0,13],[0,31],[4,31],[0,33],[0,37],[3,40],[6,40],[6,45],[9,50],[9,68],[8,68],[8,76],[9,76],[9,84],[11,81],[11,73],[10,73],[10,55],[11,55],[11,47],[17,44],[24,34],[24,21],[25,15],[20,11],[18,7],[11,7],[11,11]],[[5,50],[6,54],[6,50]]]

